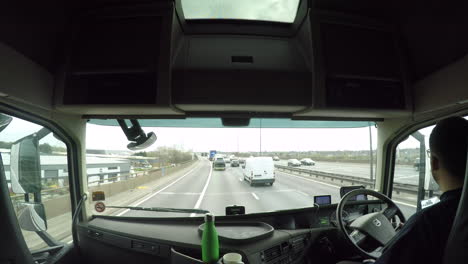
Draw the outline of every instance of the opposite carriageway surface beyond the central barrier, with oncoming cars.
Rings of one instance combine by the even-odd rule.
[[[275,162],[278,165],[287,166],[286,160]],[[311,169],[329,173],[337,173],[349,176],[357,176],[369,179],[369,163],[350,163],[350,162],[326,162],[318,161],[314,166],[301,166],[302,169]],[[374,167],[375,174],[375,167]],[[397,165],[395,170],[395,182],[418,185],[419,172],[410,165]]]

